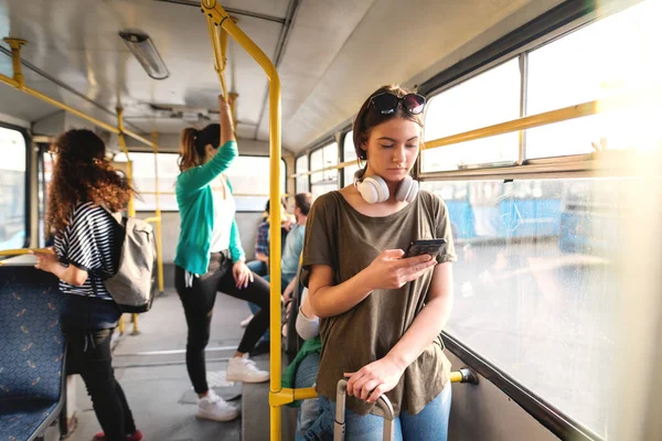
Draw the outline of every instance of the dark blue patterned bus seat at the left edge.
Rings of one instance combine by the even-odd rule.
[[[64,402],[63,295],[32,266],[0,266],[0,440],[38,440]]]

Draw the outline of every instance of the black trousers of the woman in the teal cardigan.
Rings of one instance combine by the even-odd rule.
[[[212,254],[207,273],[193,278],[191,287],[186,287],[185,283],[186,271],[179,266],[174,270],[174,287],[184,306],[189,325],[186,368],[196,394],[204,394],[209,390],[204,348],[210,341],[212,312],[217,291],[247,300],[260,308],[246,326],[237,348],[238,352],[249,352],[269,326],[269,283],[253,273],[255,281],[249,282],[246,288],[238,289],[235,286],[232,265],[225,254]]]

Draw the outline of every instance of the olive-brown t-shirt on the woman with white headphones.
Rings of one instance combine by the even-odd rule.
[[[328,265],[340,284],[366,268],[385,249],[406,250],[413,240],[445,238],[446,251],[437,261],[455,261],[448,209],[441,198],[420,191],[416,200],[397,213],[371,217],[354,209],[339,192],[320,196],[306,226],[302,281],[308,284],[311,266]],[[425,305],[433,271],[399,289],[373,291],[350,311],[320,321],[322,352],[317,389],[335,400],[335,386],[344,373],[356,372],[383,358],[402,338]],[[396,415],[415,415],[444,389],[450,363],[442,353],[441,337],[412,363],[397,386],[386,395]],[[378,408],[348,397],[349,409],[380,415]]]

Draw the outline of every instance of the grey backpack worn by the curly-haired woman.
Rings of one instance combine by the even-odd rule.
[[[115,219],[115,275],[104,280],[106,289],[122,312],[147,312],[151,308],[154,287],[157,247],[153,228],[135,217],[104,209]]]

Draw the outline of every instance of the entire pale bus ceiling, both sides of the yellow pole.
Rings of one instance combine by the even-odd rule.
[[[281,54],[284,147],[300,151],[349,121],[376,87],[427,79],[436,73],[430,69],[459,61],[451,60],[458,49],[483,47],[560,1],[229,0],[222,4],[236,10],[233,15],[239,28],[267,56],[275,60]],[[295,4],[298,9],[286,32],[284,23]],[[121,105],[132,129],[177,133],[188,125],[202,126],[216,118],[209,114],[210,119],[189,122],[190,118],[181,119],[182,112],[164,115],[150,106],[217,108],[220,84],[206,20],[197,6],[193,0],[0,0],[0,36],[29,41],[23,58],[43,73],[24,68],[33,88],[111,123],[116,118],[108,112]],[[170,77],[150,78],[118,36],[120,30],[149,34]],[[266,77],[232,39],[227,58],[227,83],[239,95],[237,132],[242,138],[267,140]],[[10,58],[3,54],[0,72],[11,75]],[[0,89],[0,112],[34,121],[53,111],[36,99]]]

